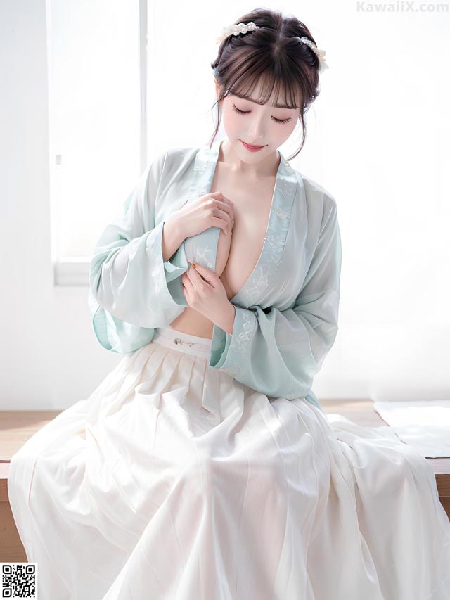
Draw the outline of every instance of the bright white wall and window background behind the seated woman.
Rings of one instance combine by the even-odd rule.
[[[139,114],[129,109],[139,113],[139,78],[129,71],[136,46],[127,55],[109,51],[128,48],[123,32],[133,30],[136,5],[124,20],[119,8],[133,3],[116,2],[119,12],[105,20],[112,3],[53,4],[59,21],[51,2],[47,18],[44,0],[0,4],[0,409],[69,407],[121,358],[95,339],[87,281],[55,287],[52,260],[88,257],[139,174]],[[450,13],[409,2],[264,6],[304,21],[330,66],[293,161],[337,200],[342,236],[340,331],[314,392],[319,399],[450,397]],[[209,141],[214,38],[251,8],[237,1],[214,10],[206,2],[149,4],[148,160]],[[58,22],[86,27],[80,47],[88,30],[110,23],[110,46],[101,51],[95,36],[89,42],[98,45],[91,57],[97,70],[84,77],[89,55],[66,56],[79,32],[57,30]],[[299,142],[294,134],[283,154]],[[56,170],[56,155],[65,170]]]

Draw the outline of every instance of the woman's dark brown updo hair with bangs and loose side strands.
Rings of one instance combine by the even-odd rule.
[[[245,34],[229,35],[219,46],[217,58],[211,63],[214,76],[220,87],[217,102],[217,125],[210,147],[219,131],[221,121],[220,102],[229,94],[249,98],[258,82],[261,96],[254,98],[265,104],[274,88],[276,100],[281,93],[283,104],[296,108],[300,101],[299,120],[302,125],[302,144],[288,158],[292,160],[300,153],[306,139],[304,115],[311,103],[319,96],[319,58],[299,37],[307,36],[314,44],[306,25],[292,15],[283,16],[281,11],[255,8],[238,18],[238,23],[253,22],[259,29]],[[213,107],[214,108],[214,107]]]

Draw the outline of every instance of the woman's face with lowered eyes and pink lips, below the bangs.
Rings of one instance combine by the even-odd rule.
[[[219,86],[216,82],[216,94],[219,98]],[[252,98],[257,98],[259,87]],[[282,94],[280,95],[282,101]],[[297,104],[299,98],[297,98]],[[233,94],[221,101],[222,119],[229,142],[237,155],[245,162],[259,162],[274,153],[292,134],[300,115],[300,108],[282,108],[273,106],[272,94],[266,104],[238,98]],[[264,146],[258,152],[251,152],[242,142],[252,146]]]

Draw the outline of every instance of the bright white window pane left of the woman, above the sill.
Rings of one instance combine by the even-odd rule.
[[[56,285],[87,285],[89,253],[105,219],[120,209],[146,164],[146,32],[140,34],[139,14],[138,0],[48,5]]]

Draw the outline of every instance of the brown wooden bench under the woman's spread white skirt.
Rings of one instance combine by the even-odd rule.
[[[327,413],[336,412],[361,426],[387,425],[371,400],[321,400]],[[0,562],[27,562],[8,502],[8,470],[13,454],[60,411],[0,411]],[[428,459],[435,472],[439,499],[450,518],[450,458]]]

